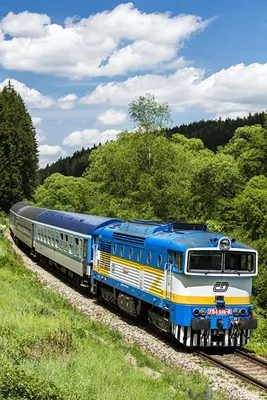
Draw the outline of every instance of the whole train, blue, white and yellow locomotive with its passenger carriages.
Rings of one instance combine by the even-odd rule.
[[[256,250],[204,224],[124,222],[22,202],[10,229],[42,261],[186,346],[241,346],[257,327]]]

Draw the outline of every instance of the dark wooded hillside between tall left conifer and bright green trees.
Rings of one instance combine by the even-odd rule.
[[[75,151],[72,156],[65,158],[60,157],[53,164],[41,168],[39,170],[39,182],[42,184],[48,176],[57,172],[65,176],[82,176],[88,167],[89,154],[99,146],[101,146],[101,143],[99,143],[98,146],[94,145],[90,149],[85,149],[83,147],[81,150]]]

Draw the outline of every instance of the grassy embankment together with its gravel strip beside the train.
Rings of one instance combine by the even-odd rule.
[[[4,398],[263,398],[198,357],[129,325],[16,247],[14,254],[7,241],[0,239],[0,249]]]

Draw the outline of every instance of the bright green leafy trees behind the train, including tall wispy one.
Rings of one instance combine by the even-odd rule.
[[[1,96],[3,92],[0,117]],[[25,198],[39,207],[126,220],[185,218],[188,222],[206,222],[210,230],[255,247],[259,252],[259,275],[254,280],[253,302],[260,316],[256,335],[266,352],[267,117],[260,113],[248,117],[249,121],[239,119],[232,125],[228,121],[234,131],[227,133],[229,140],[215,152],[194,137],[200,134],[185,134],[183,129],[170,134],[166,129],[170,108],[158,104],[153,95],[130,103],[129,116],[136,129],[121,132],[116,141],[90,150],[82,176],[56,172],[38,187],[35,177],[36,189],[9,196],[9,204]],[[254,121],[260,123],[250,124]],[[217,122],[217,126],[223,126],[222,121]],[[12,131],[1,124],[0,119],[0,137],[3,131],[11,137]],[[209,121],[205,127],[200,122],[198,126],[198,131],[208,132],[212,123]],[[216,137],[215,130],[211,136]],[[5,151],[2,143],[0,154]],[[2,179],[1,185],[2,194],[7,190]],[[4,211],[6,205],[0,205]]]

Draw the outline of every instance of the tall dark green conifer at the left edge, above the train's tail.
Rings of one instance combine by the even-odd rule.
[[[21,96],[9,82],[0,92],[0,209],[30,199],[37,185],[35,129]]]

